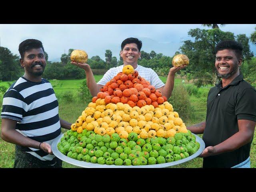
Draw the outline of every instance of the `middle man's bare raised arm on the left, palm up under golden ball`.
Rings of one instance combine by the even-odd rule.
[[[86,83],[90,90],[90,93],[93,97],[97,96],[97,93],[100,92],[100,88],[102,87],[102,85],[96,84],[96,81],[90,66],[86,63],[76,63],[76,62],[70,62],[70,63],[84,69],[86,74]]]

